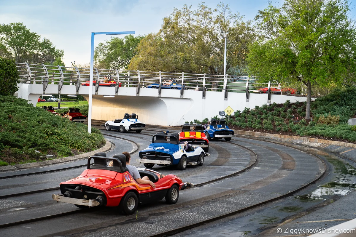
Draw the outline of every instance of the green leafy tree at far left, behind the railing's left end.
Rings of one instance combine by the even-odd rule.
[[[14,59],[17,63],[32,64],[53,62],[62,59],[63,50],[56,49],[49,39],[31,32],[22,23],[0,24],[0,55]]]

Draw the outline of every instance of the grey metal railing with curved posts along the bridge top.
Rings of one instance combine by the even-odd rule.
[[[89,85],[89,68],[28,63],[16,63],[16,66],[20,82],[42,84],[43,93],[48,84],[58,85],[58,94],[61,93],[63,85],[75,85],[77,94],[80,86]],[[271,101],[271,93],[282,94],[277,81],[262,83],[257,77],[97,68],[93,73],[95,94],[98,93],[99,86],[115,87],[115,95],[118,95],[119,87],[135,87],[136,95],[140,95],[140,88],[156,88],[158,89],[157,96],[161,97],[162,88],[167,88],[165,84],[169,83],[169,80],[172,80],[172,89],[183,89],[180,90],[180,98],[184,97],[184,91],[187,90],[201,91],[203,99],[205,99],[206,91],[223,91],[225,100],[227,100],[228,92],[246,93],[246,101],[249,101],[250,93],[267,93],[268,102]]]

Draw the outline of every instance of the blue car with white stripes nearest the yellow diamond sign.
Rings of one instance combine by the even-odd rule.
[[[230,141],[231,138],[234,136],[234,130],[231,130],[227,126],[227,122],[225,121],[225,119],[211,120],[210,125],[207,125],[206,128],[204,129],[204,133],[206,139],[208,139],[209,141],[212,138],[214,139],[224,138],[225,141]]]

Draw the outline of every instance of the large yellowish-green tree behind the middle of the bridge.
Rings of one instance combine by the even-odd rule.
[[[184,5],[163,19],[158,33],[138,44],[129,69],[224,74],[224,37],[227,35],[227,66],[244,68],[247,45],[255,34],[251,21],[232,14],[224,3],[212,10],[204,2],[197,10]]]

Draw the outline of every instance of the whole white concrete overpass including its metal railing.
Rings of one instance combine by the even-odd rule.
[[[89,86],[82,85],[89,81],[88,68],[27,63],[17,63],[17,68],[21,79],[17,96],[34,106],[42,94],[89,97]],[[170,79],[176,89],[164,88],[164,81]],[[305,97],[273,94],[273,88],[279,89],[276,81],[262,83],[247,76],[94,69],[94,80],[92,119],[98,120],[136,113],[147,124],[181,125],[194,119],[210,119],[227,106],[242,111],[287,99],[306,101]],[[104,80],[110,81],[110,86],[100,86]],[[151,84],[157,84],[156,88],[149,88]],[[267,88],[267,92],[261,93],[260,88]]]

